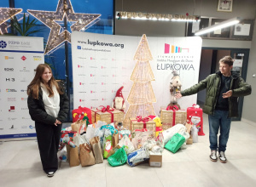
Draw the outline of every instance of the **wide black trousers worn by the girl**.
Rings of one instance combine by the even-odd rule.
[[[38,149],[45,173],[55,172],[58,169],[57,151],[61,139],[61,126],[57,127],[43,122],[35,122]]]

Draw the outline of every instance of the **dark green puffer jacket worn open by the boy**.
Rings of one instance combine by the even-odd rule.
[[[218,99],[218,92],[221,83],[221,72],[218,71],[209,75],[205,80],[195,84],[193,87],[181,91],[183,96],[196,94],[199,91],[207,88],[207,97],[203,111],[212,115]],[[232,96],[229,98],[229,117],[238,116],[238,97],[246,96],[252,93],[252,88],[247,82],[236,73],[231,71],[230,90],[233,91]]]

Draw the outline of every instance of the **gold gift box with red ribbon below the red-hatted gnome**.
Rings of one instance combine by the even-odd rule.
[[[113,113],[113,122],[114,123],[123,122],[124,115],[125,115],[125,113],[123,111],[114,110],[114,111],[110,111],[110,112]],[[102,121],[102,122],[107,122],[107,124],[110,124],[111,116],[112,116],[111,113],[109,113],[108,111],[102,112],[102,111],[98,111],[96,109],[92,109],[91,110],[91,122],[94,123],[94,122]]]

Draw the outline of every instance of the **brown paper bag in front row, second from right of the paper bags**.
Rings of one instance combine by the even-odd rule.
[[[90,144],[80,144],[79,150],[79,159],[81,161],[82,167],[91,166],[95,164],[95,158],[90,148]]]

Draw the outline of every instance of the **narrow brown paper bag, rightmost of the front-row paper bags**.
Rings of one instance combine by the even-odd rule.
[[[100,138],[98,136],[93,137],[90,139],[90,146],[93,151],[93,155],[95,157],[95,162],[102,163],[103,162],[103,156],[102,156],[102,145],[100,142]]]

